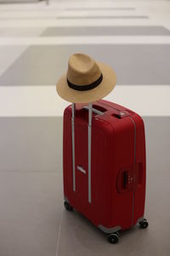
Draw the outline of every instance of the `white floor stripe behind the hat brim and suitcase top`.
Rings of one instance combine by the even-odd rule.
[[[170,116],[170,86],[119,85],[105,100],[116,102],[145,116]],[[54,85],[0,87],[0,116],[62,116],[70,103],[62,100]]]

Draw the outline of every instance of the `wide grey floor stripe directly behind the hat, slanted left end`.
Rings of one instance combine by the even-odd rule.
[[[76,52],[113,67],[119,85],[170,84],[170,45],[68,44],[31,46],[3,73],[0,85],[56,84]]]

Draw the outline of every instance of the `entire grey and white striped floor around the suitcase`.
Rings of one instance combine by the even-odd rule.
[[[0,5],[0,256],[169,255],[170,2],[68,1]],[[144,118],[145,216],[116,246],[65,212],[62,113],[55,83],[71,53],[116,70],[106,99]]]

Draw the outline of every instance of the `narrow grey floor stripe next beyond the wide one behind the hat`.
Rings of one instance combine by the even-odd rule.
[[[170,35],[170,31],[163,26],[71,26],[71,27],[48,27],[42,32],[41,37],[56,37],[56,36],[97,36],[97,35]]]

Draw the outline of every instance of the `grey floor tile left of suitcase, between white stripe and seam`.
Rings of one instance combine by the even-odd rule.
[[[60,118],[0,117],[0,127],[0,172],[61,172]]]

